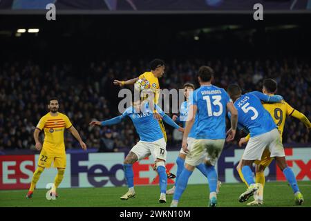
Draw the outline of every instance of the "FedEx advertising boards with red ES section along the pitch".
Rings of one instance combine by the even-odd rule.
[[[167,170],[176,174],[178,151],[168,151]],[[311,180],[311,148],[285,148],[288,166],[292,168],[297,180]],[[218,178],[222,182],[241,182],[236,165],[241,159],[243,149],[225,149],[216,165]],[[59,188],[124,186],[124,153],[72,153],[67,154],[67,167],[64,180]],[[28,189],[32,173],[37,168],[38,155],[0,156],[0,189]],[[153,171],[153,159],[147,157],[133,165],[135,185],[158,184],[158,173]],[[37,189],[45,189],[46,184],[54,182],[57,169],[46,169],[41,174]],[[275,162],[265,170],[266,180],[285,180]],[[173,184],[174,180],[168,180]],[[195,170],[189,184],[207,182],[200,171]]]

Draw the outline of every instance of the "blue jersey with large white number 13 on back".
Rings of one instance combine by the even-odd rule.
[[[204,85],[194,90],[189,103],[198,107],[196,139],[225,139],[229,95],[223,88]]]

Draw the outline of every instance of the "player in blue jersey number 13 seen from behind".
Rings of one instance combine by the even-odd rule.
[[[223,88],[218,88],[211,84],[213,75],[214,71],[211,68],[207,66],[200,67],[198,70],[200,88],[195,90],[189,97],[189,114],[182,139],[182,149],[187,153],[187,156],[185,168],[182,170],[176,184],[171,207],[178,206],[178,201],[187,187],[191,173],[202,162],[205,164],[209,182],[209,206],[215,207],[217,205],[216,188],[218,179],[214,166],[225,144],[225,117],[227,110],[232,115],[232,128],[228,133],[228,141],[234,139],[238,117],[236,108],[230,102],[227,92]],[[191,151],[189,151],[187,139],[196,116],[198,117],[196,135],[191,143],[191,147],[189,147]]]

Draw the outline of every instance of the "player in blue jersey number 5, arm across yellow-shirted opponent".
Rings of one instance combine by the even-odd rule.
[[[258,91],[242,95],[242,90],[237,84],[229,85],[228,93],[238,110],[238,124],[245,127],[250,133],[249,142],[246,145],[241,162],[241,171],[249,187],[240,195],[239,202],[245,202],[254,195],[255,191],[262,188],[260,183],[254,182],[250,166],[255,160],[261,160],[263,151],[268,148],[270,157],[275,157],[276,164],[290,183],[294,195],[302,203],[303,196],[299,191],[296,177],[292,169],[286,164],[281,135],[270,113],[261,104],[261,101],[281,103],[283,97],[279,95],[268,96]]]

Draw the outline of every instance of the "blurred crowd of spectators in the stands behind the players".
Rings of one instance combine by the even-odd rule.
[[[262,80],[273,78],[278,94],[311,119],[311,66],[300,59],[185,59],[167,60],[160,88],[181,88],[185,82],[198,86],[196,72],[201,65],[211,66],[216,73],[214,84],[226,88],[238,83],[243,93],[261,91]],[[0,66],[0,150],[34,149],[33,131],[40,117],[48,113],[48,99],[59,99],[59,112],[65,113],[88,147],[100,152],[131,148],[139,137],[130,119],[109,127],[90,127],[94,120],[116,115],[121,98],[113,79],[131,79],[148,70],[147,60],[101,61],[82,68],[72,64],[43,67],[28,61],[3,63]],[[133,89],[133,86],[126,86]],[[311,143],[310,133],[294,119],[286,119],[284,143]],[[238,133],[235,142],[244,134]],[[44,133],[40,133],[41,140]],[[182,134],[167,126],[168,149],[180,146]],[[66,148],[79,148],[79,143],[65,132]]]

